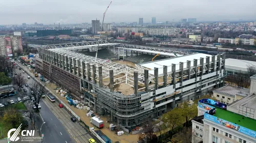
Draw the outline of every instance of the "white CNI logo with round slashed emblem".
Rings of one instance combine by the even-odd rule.
[[[13,128],[13,129],[10,129],[8,131],[7,136],[8,136],[10,141],[17,141],[17,140],[19,140],[19,137],[17,135],[20,132],[20,128],[22,128],[22,124],[20,124],[17,129]],[[14,133],[11,136],[12,132],[14,132]],[[26,134],[25,134],[25,132],[26,132]],[[35,134],[35,130],[23,130],[22,131],[22,136],[34,136],[34,134]]]

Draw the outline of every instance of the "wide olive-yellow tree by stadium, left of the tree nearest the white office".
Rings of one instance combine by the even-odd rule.
[[[182,116],[181,112],[181,108],[174,108],[163,115],[162,120],[170,130],[173,131],[174,127],[181,126],[184,123],[185,118]]]

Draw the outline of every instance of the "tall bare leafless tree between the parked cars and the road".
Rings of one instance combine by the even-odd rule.
[[[30,98],[34,98],[32,100],[33,105],[36,107],[36,111],[38,110],[38,104],[41,99],[41,96],[45,94],[45,87],[38,84],[37,82],[34,82],[33,84],[29,85],[30,87]]]

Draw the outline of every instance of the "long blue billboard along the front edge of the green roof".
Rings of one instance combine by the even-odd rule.
[[[227,128],[230,128],[230,129],[233,129],[233,130],[237,130],[241,133],[244,133],[246,135],[249,135],[251,137],[254,137],[256,138],[256,132],[253,131],[253,130],[250,130],[250,129],[247,129],[245,127],[242,127],[242,126],[239,126],[237,124],[234,124],[234,123],[231,123],[231,122],[228,122],[226,120],[223,120],[223,119],[220,119],[220,118],[217,118],[215,116],[211,116],[209,115],[208,113],[205,113],[204,114],[204,119],[207,119],[207,120],[210,120],[212,122],[215,122],[217,124],[220,124],[222,126],[225,126]]]

